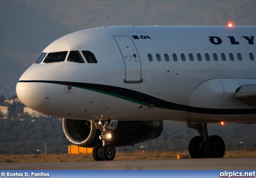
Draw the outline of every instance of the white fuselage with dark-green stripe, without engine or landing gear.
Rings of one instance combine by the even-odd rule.
[[[16,92],[30,108],[70,119],[254,122],[256,107],[234,96],[240,86],[256,84],[255,30],[119,26],[78,31],[43,53],[82,55],[85,50],[97,63],[83,55],[85,63],[70,62],[68,54],[63,62],[34,63]]]

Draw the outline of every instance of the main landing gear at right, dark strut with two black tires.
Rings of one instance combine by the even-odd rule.
[[[196,129],[200,136],[191,139],[188,151],[191,158],[222,158],[225,154],[225,143],[218,135],[208,137],[207,123],[187,123]]]

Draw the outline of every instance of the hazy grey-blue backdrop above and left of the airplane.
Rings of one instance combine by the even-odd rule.
[[[254,0],[1,0],[0,95],[54,40],[108,25],[255,25]]]

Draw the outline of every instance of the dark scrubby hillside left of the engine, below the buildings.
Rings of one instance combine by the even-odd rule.
[[[44,150],[44,143],[48,154],[68,152],[62,119],[2,119],[0,128],[0,155],[38,154],[36,150]]]

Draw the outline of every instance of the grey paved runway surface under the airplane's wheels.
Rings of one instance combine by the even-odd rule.
[[[256,158],[0,163],[1,170],[256,170]]]

